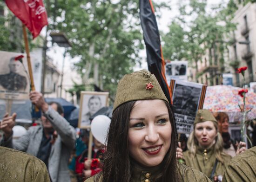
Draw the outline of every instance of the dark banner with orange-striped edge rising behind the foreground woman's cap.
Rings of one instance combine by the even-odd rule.
[[[140,18],[147,51],[148,70],[155,75],[165,96],[172,104],[170,88],[165,77],[160,35],[151,0],[140,0]]]

